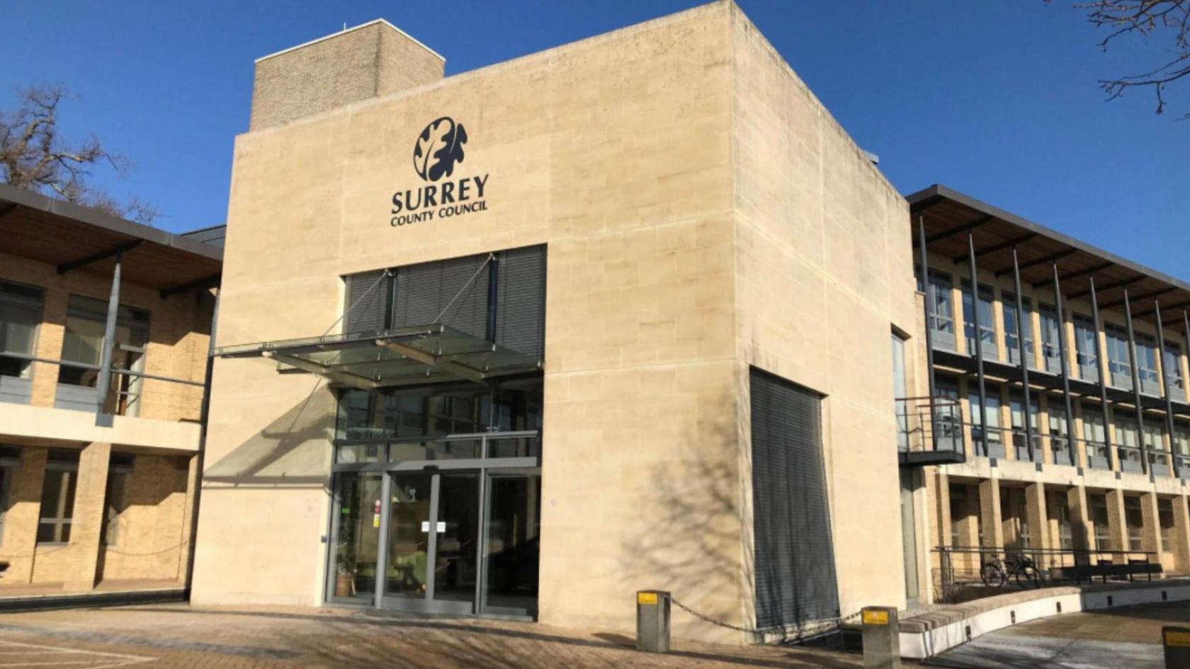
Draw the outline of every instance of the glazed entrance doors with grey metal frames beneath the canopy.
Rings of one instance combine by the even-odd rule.
[[[537,613],[539,456],[519,434],[441,440],[464,437],[484,444],[472,446],[478,457],[420,461],[394,457],[389,444],[339,448],[328,600],[456,615]]]

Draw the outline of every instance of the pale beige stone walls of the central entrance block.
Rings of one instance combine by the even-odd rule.
[[[440,117],[487,208],[393,225]],[[823,398],[839,612],[904,604],[900,551],[871,546],[901,544],[907,205],[733,4],[256,127],[220,346],[334,332],[344,275],[545,244],[539,620],[630,630],[664,588],[754,626],[750,367]],[[194,601],[325,601],[333,390],[219,359],[212,398]]]

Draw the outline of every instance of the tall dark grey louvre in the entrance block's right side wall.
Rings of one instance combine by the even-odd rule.
[[[758,629],[839,615],[821,398],[751,369]]]

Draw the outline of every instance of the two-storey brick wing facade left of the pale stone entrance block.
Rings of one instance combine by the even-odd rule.
[[[190,552],[212,293],[163,296],[171,283],[146,279],[156,271],[146,269],[156,254],[173,254],[177,263],[167,270],[168,281],[188,271],[188,254],[162,243],[173,236],[79,207],[55,205],[58,211],[50,213],[48,200],[7,187],[0,196],[5,223],[19,229],[6,230],[0,245],[6,307],[0,318],[8,334],[0,338],[0,561],[10,565],[0,596],[181,588]],[[127,238],[136,235],[148,237],[134,237],[133,249]],[[105,426],[94,405],[98,363],[86,363],[81,358],[89,355],[98,359],[106,317],[82,317],[89,318],[83,324],[79,314],[68,314],[68,305],[92,299],[106,312],[114,254],[77,268],[69,263],[87,258],[89,244],[102,248],[112,237],[129,248],[119,304],[142,314],[145,329],[143,342],[118,340],[139,351],[132,369],[143,375],[131,377],[138,380],[131,395],[108,406],[115,415]],[[218,249],[207,251],[199,269],[218,270]],[[70,329],[75,334],[68,337]],[[127,379],[114,374],[113,383]],[[87,393],[89,409],[81,406]],[[55,533],[55,525],[64,533]]]

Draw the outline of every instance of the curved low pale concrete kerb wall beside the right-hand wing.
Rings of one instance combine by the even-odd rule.
[[[1190,579],[1022,590],[901,620],[901,657],[925,659],[1020,623],[1100,608],[1190,600]]]

